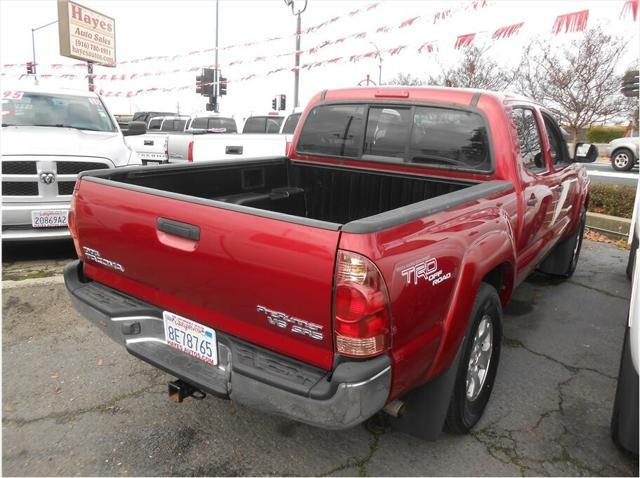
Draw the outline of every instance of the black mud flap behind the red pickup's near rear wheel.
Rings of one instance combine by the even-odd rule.
[[[463,340],[446,372],[402,398],[405,413],[400,418],[391,418],[393,428],[423,440],[433,441],[440,436],[447,418],[464,343]]]

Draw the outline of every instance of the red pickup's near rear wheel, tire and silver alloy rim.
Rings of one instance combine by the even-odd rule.
[[[498,371],[502,342],[502,305],[496,290],[480,284],[464,339],[445,428],[467,433],[484,412]]]

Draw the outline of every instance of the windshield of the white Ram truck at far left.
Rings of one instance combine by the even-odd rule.
[[[5,91],[2,126],[54,126],[89,131],[116,131],[96,97]]]

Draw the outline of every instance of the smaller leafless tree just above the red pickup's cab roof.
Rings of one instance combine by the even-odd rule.
[[[461,61],[454,67],[441,69],[438,76],[432,76],[432,85],[455,88],[480,88],[502,91],[514,81],[514,72],[500,67],[488,54],[489,47],[471,45],[462,52]]]

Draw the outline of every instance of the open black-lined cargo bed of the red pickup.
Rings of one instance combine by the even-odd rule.
[[[122,183],[129,189],[207,200],[210,205],[239,206],[310,219],[320,227],[344,225],[414,203],[471,188],[475,183],[446,178],[417,177],[325,167],[286,158],[220,162],[190,166],[163,165],[90,176]],[[113,183],[111,183],[114,185]],[[471,195],[450,195],[442,205],[485,195],[492,182],[475,185]],[[475,191],[481,188],[482,191]],[[215,201],[215,202],[211,202]],[[200,201],[197,201],[200,202]],[[433,207],[435,204],[432,203]],[[436,205],[437,206],[437,205]],[[440,209],[440,208],[439,208]],[[404,211],[410,212],[410,211]],[[405,218],[406,219],[406,218]]]

